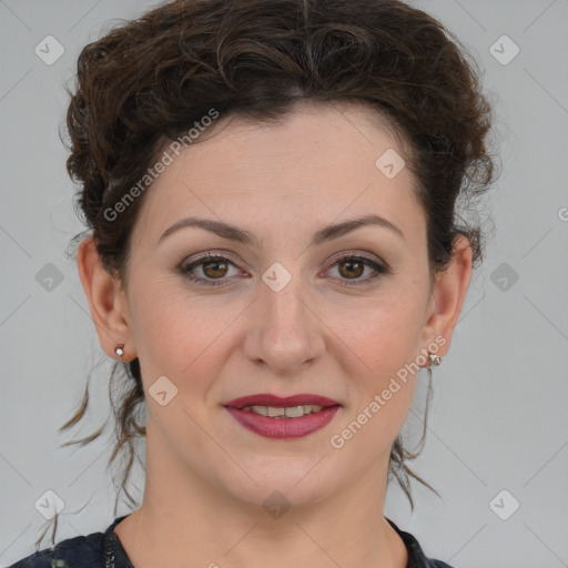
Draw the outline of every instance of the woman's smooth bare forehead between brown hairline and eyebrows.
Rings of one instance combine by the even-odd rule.
[[[179,156],[170,153],[172,163],[139,212],[133,241],[140,244],[155,243],[189,215],[242,226],[263,241],[277,230],[297,234],[368,213],[417,237],[424,229],[414,175],[405,166],[396,173],[403,149],[365,108],[304,104],[270,122],[220,118]]]

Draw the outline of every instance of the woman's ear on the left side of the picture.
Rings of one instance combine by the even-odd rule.
[[[126,296],[120,282],[104,270],[92,236],[79,244],[77,265],[101,347],[106,355],[116,358],[116,345],[124,344],[122,361],[132,361],[135,354],[128,345]]]

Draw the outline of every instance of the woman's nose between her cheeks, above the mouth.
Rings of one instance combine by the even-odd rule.
[[[248,313],[245,355],[274,373],[297,373],[324,353],[325,325],[308,294],[301,290],[300,278],[293,277],[280,292],[264,282],[258,286],[258,297]]]

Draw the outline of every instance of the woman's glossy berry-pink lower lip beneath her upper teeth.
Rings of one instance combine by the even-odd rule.
[[[339,409],[338,406],[323,408],[318,413],[298,418],[271,418],[246,410],[225,406],[233,417],[245,428],[266,438],[302,438],[329,424]]]

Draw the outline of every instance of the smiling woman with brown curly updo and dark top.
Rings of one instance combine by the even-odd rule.
[[[398,0],[182,0],[83,49],[77,261],[145,490],[13,566],[448,566],[382,511],[481,258],[491,110],[450,38]]]

